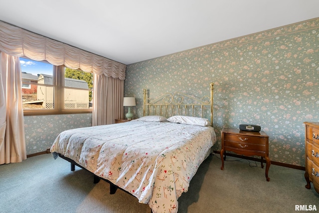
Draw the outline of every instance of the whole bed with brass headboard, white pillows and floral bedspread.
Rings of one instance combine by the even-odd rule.
[[[190,103],[192,102],[192,103]],[[213,84],[201,99],[167,93],[147,98],[141,118],[61,132],[50,151],[148,204],[153,213],[176,213],[200,164],[212,153]],[[205,118],[205,116],[210,119]],[[199,116],[198,116],[199,115]]]

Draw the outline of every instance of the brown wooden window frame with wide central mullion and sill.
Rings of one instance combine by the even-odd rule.
[[[21,57],[26,58],[27,57]],[[32,60],[32,59],[30,59]],[[40,61],[42,63],[49,63],[47,61]],[[53,71],[52,71],[52,77],[53,77],[53,84],[52,85],[43,85],[43,84],[37,84],[32,82],[23,82],[21,84],[33,84],[33,85],[43,85],[47,87],[53,87],[53,109],[23,109],[23,115],[24,116],[31,116],[31,115],[50,115],[50,114],[77,114],[77,113],[92,113],[92,108],[71,108],[71,109],[65,109],[64,107],[64,65],[55,66],[53,65]],[[80,69],[79,69],[80,70]],[[80,70],[82,71],[82,70]],[[84,72],[84,71],[83,71]],[[93,74],[94,75],[94,74]],[[21,88],[22,89],[22,88]],[[86,90],[86,89],[79,89],[79,90]],[[93,89],[92,89],[93,90]],[[91,89],[88,89],[88,91],[92,91]]]

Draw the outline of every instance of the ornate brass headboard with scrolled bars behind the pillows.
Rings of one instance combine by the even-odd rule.
[[[188,115],[194,116],[195,107],[201,110],[201,117],[203,117],[204,106],[210,107],[210,123],[213,125],[213,98],[214,98],[214,83],[210,83],[210,97],[204,96],[200,99],[191,97],[184,93],[165,93],[164,95],[150,100],[146,97],[146,89],[143,89],[144,104],[143,104],[143,116],[150,115],[152,110],[153,114],[159,114],[165,117],[171,115]],[[187,102],[185,101],[187,99]],[[158,109],[159,108],[159,109]],[[181,109],[183,108],[183,109]],[[190,108],[190,109],[189,109]],[[159,110],[159,111],[158,111]],[[170,110],[170,112],[169,112]],[[191,113],[188,113],[191,111]],[[177,112],[177,113],[174,113]]]

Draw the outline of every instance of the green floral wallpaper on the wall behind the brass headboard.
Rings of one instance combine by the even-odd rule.
[[[175,91],[202,97],[211,82],[215,150],[223,127],[257,124],[272,161],[305,166],[303,122],[319,121],[319,18],[128,65],[124,91],[136,97],[140,117],[143,89],[151,99]]]

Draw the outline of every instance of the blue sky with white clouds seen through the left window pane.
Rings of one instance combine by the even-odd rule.
[[[40,62],[33,61],[30,59],[20,58],[21,71],[25,73],[31,73],[32,75],[37,76],[37,74],[47,74],[52,75],[53,73],[53,65]]]

